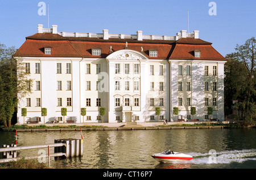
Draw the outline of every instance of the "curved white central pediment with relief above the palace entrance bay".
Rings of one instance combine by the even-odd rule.
[[[147,60],[148,59],[141,52],[130,50],[130,49],[122,49],[122,50],[113,52],[106,58],[108,60]]]

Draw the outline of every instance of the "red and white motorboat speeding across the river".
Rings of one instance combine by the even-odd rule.
[[[162,153],[156,153],[151,155],[156,161],[188,161],[192,160],[192,156],[188,154],[173,152],[171,150],[164,150]]]

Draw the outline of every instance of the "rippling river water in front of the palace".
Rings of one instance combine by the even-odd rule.
[[[52,158],[51,168],[256,168],[256,128],[82,131],[82,135],[83,156],[58,161]],[[81,133],[80,131],[18,132],[17,145],[53,144],[55,139],[67,138],[81,139]],[[0,145],[2,144],[15,144],[15,133],[0,132]],[[150,156],[166,149],[191,154],[193,160],[159,163]],[[17,153],[18,157],[35,156],[38,150],[19,150]],[[45,150],[47,152],[47,149]],[[53,153],[53,148],[50,153]]]

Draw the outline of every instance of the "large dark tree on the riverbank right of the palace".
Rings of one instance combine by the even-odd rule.
[[[227,96],[225,106],[231,107],[232,100],[237,100],[241,118],[253,123],[256,119],[256,40],[251,37],[235,49],[236,52],[226,55],[229,63],[225,67],[225,95],[232,93],[233,99]]]

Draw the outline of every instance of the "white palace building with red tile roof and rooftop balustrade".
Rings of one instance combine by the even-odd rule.
[[[26,37],[14,57],[33,79],[18,103],[18,123],[114,123],[224,120],[224,64],[199,31],[176,36],[57,32]],[[105,115],[100,108],[105,107]],[[160,107],[156,115],[155,107]],[[213,108],[208,115],[208,107]],[[26,108],[26,116],[22,116]],[[42,116],[42,108],[47,115]],[[61,115],[67,108],[67,115]],[[81,115],[86,108],[86,115]],[[102,120],[103,119],[103,120]]]

